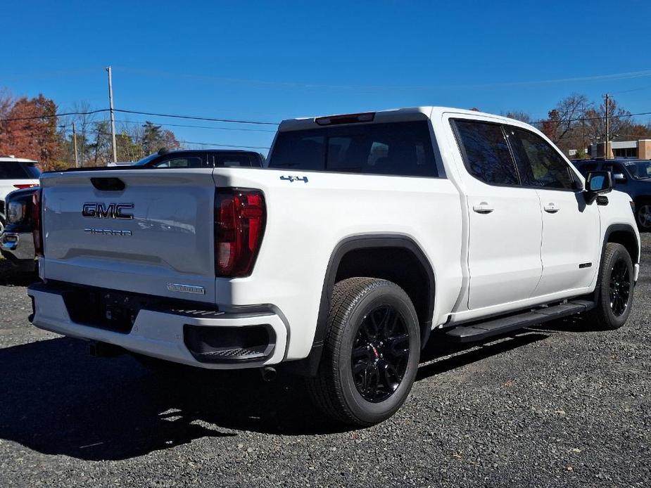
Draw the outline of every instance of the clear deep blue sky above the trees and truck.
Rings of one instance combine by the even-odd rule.
[[[649,1],[12,1],[2,18],[0,86],[61,111],[106,108],[112,65],[115,108],[157,113],[277,122],[449,105],[543,117],[572,92],[606,91],[651,112]],[[118,114],[145,118],[267,130],[169,127],[185,141],[273,136]]]

